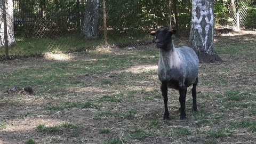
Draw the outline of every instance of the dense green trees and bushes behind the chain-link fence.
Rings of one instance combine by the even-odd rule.
[[[215,25],[233,26],[237,25],[237,21],[243,20],[241,21],[243,25],[239,27],[255,27],[256,9],[253,3],[256,2],[214,0]],[[108,30],[116,34],[138,35],[138,32],[136,34],[138,30],[172,27],[179,29],[180,34],[188,36],[191,6],[190,0],[106,1]],[[94,13],[93,7],[97,8],[98,12]],[[239,18],[237,18],[238,14]],[[22,2],[14,0],[14,17],[15,28],[27,33],[29,32],[27,27],[36,25],[38,22],[42,23],[42,18],[46,20],[44,23],[46,29],[60,30],[64,33],[71,29],[84,31],[90,23],[89,17],[95,17],[94,22],[98,19],[98,26],[97,23],[94,23],[94,26],[97,26],[100,31],[103,29],[102,1],[100,0],[25,0]]]

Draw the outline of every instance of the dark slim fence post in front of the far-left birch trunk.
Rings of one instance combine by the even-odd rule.
[[[2,5],[3,5],[3,19],[4,19],[4,47],[5,47],[5,56],[9,57],[5,0],[2,0]]]

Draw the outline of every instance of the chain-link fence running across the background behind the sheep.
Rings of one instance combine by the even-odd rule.
[[[215,23],[244,27],[248,4],[254,2],[233,5],[234,1],[215,3]],[[0,0],[0,6],[0,60],[85,51],[106,44],[146,45],[151,43],[148,31],[158,27],[169,26],[187,35],[191,19],[190,0]]]

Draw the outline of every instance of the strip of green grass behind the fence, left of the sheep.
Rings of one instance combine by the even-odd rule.
[[[52,34],[54,35],[54,33]],[[138,39],[145,39],[145,34],[136,36]],[[148,38],[147,38],[148,39]],[[41,54],[46,52],[66,53],[73,51],[86,51],[95,49],[95,45],[103,45],[103,37],[98,39],[84,39],[77,34],[62,34],[60,37],[25,37],[16,36],[16,44],[9,48],[10,55],[30,55]],[[117,38],[108,38],[110,45],[118,43],[131,43],[134,39],[127,36]],[[5,49],[0,49],[0,55],[5,55]]]

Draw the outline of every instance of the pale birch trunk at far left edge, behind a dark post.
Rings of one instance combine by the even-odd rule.
[[[13,1],[6,0],[6,25],[7,25],[7,39],[8,45],[15,44],[14,26],[13,26]],[[3,18],[3,1],[0,0],[0,46],[4,46],[4,18]]]

